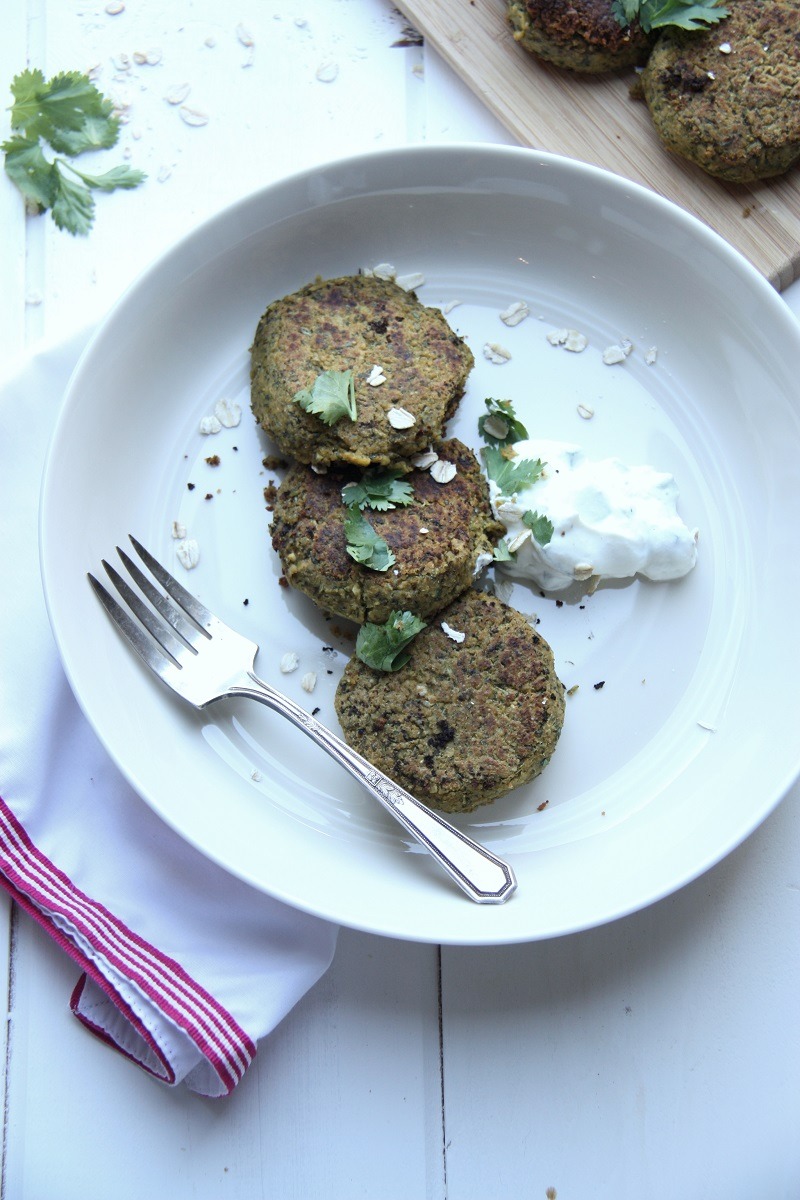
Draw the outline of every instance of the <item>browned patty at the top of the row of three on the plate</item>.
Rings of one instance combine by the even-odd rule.
[[[317,280],[271,304],[251,348],[251,404],[279,450],[300,462],[391,466],[444,434],[474,364],[438,308],[375,276]],[[385,382],[367,379],[378,366]],[[357,415],[326,425],[294,397],[324,371],[353,371]],[[397,428],[391,409],[413,424]]]

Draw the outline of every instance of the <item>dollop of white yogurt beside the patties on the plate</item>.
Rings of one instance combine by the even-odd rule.
[[[678,515],[678,485],[652,467],[628,467],[619,458],[590,460],[561,442],[515,443],[517,460],[540,458],[540,478],[504,496],[489,480],[495,517],[505,528],[513,557],[498,566],[546,592],[576,582],[675,580],[697,562],[697,529]],[[528,511],[546,516],[553,536],[539,545],[523,521]]]

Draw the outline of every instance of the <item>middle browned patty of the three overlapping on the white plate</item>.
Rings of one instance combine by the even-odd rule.
[[[272,546],[287,582],[325,612],[360,624],[380,624],[395,608],[413,608],[425,619],[470,587],[479,557],[491,557],[503,526],[492,515],[473,451],[453,438],[438,454],[456,467],[453,479],[438,484],[429,470],[411,470],[404,482],[413,504],[363,511],[395,556],[386,571],[354,562],[345,550],[342,488],[361,474],[291,467],[272,516]]]

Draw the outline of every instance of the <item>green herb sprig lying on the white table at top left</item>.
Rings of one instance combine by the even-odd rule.
[[[0,146],[6,174],[32,210],[49,209],[59,229],[85,236],[95,220],[92,192],[137,187],[146,178],[126,166],[96,175],[72,161],[116,144],[120,121],[112,101],[78,71],[47,80],[40,70],[26,70],[14,76],[11,92],[13,134]],[[46,145],[55,151],[53,158]]]

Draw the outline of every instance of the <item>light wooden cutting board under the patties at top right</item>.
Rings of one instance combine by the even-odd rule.
[[[397,0],[397,7],[523,145],[636,180],[716,229],[780,289],[800,276],[800,172],[723,184],[661,145],[632,72],[579,76],[523,50],[505,0]]]

